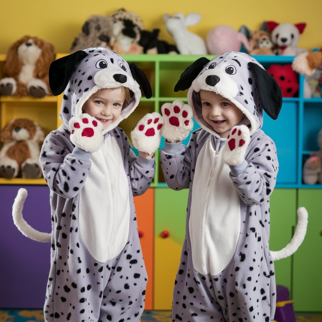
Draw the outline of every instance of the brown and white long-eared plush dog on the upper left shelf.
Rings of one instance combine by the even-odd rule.
[[[55,59],[54,46],[37,37],[24,36],[8,49],[0,95],[37,98],[52,95],[48,72]]]

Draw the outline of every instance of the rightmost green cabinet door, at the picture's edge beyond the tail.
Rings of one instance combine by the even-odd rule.
[[[293,299],[296,311],[322,311],[322,189],[299,189],[298,207],[308,211],[305,239],[293,255]]]

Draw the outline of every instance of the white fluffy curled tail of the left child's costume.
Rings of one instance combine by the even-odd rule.
[[[14,204],[12,206],[12,217],[14,219],[14,224],[26,237],[33,239],[37,242],[50,242],[51,234],[47,232],[39,232],[38,230],[31,227],[22,215],[22,210],[24,208],[24,201],[27,198],[27,190],[20,188],[18,190],[17,196],[14,199]]]

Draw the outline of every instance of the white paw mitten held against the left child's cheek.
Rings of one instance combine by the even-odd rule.
[[[103,125],[89,114],[74,116],[69,120],[71,143],[86,152],[95,152],[103,142]]]

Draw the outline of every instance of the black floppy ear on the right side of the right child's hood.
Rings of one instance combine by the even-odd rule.
[[[275,79],[254,62],[248,63],[249,69],[255,76],[260,94],[260,104],[263,110],[273,120],[276,120],[282,107],[282,90]]]

